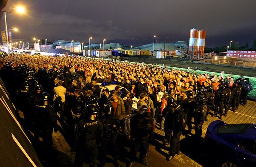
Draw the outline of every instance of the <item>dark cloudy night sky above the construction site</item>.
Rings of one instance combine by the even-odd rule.
[[[206,47],[252,45],[256,0],[12,0],[27,15],[8,14],[15,39],[58,39],[139,46],[189,40],[191,28],[206,30]]]

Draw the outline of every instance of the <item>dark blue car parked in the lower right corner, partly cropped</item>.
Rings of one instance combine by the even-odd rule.
[[[214,167],[256,167],[256,124],[213,121],[204,144],[207,162]]]

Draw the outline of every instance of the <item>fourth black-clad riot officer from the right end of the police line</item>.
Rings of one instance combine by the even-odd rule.
[[[215,103],[215,111],[212,117],[217,116],[217,113],[220,114],[220,119],[222,119],[223,108],[224,108],[224,100],[225,94],[223,91],[223,84],[219,85],[219,88],[215,91],[214,103]]]

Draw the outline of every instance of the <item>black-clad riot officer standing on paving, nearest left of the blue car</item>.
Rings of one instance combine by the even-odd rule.
[[[185,130],[186,123],[187,123],[187,115],[184,112],[184,109],[182,109],[181,104],[177,103],[175,104],[175,112],[173,116],[173,136],[170,143],[170,149],[169,149],[169,156],[167,157],[167,160],[170,161],[172,158],[179,154],[180,151],[180,137],[182,134],[182,131]]]

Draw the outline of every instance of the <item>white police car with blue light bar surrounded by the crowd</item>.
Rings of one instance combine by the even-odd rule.
[[[100,88],[100,93],[99,93],[99,97],[101,97],[103,95],[103,90],[104,89],[108,89],[110,94],[113,94],[114,89],[116,88],[117,84],[116,82],[102,82],[102,83],[97,83],[97,85],[99,85]],[[126,98],[126,94],[130,93],[127,89],[125,89],[124,87],[120,86],[121,90],[120,90],[120,97],[121,98]],[[135,96],[132,98],[133,100],[133,106],[132,106],[132,110],[136,110],[137,109],[137,102],[139,101],[138,98],[136,98]]]

